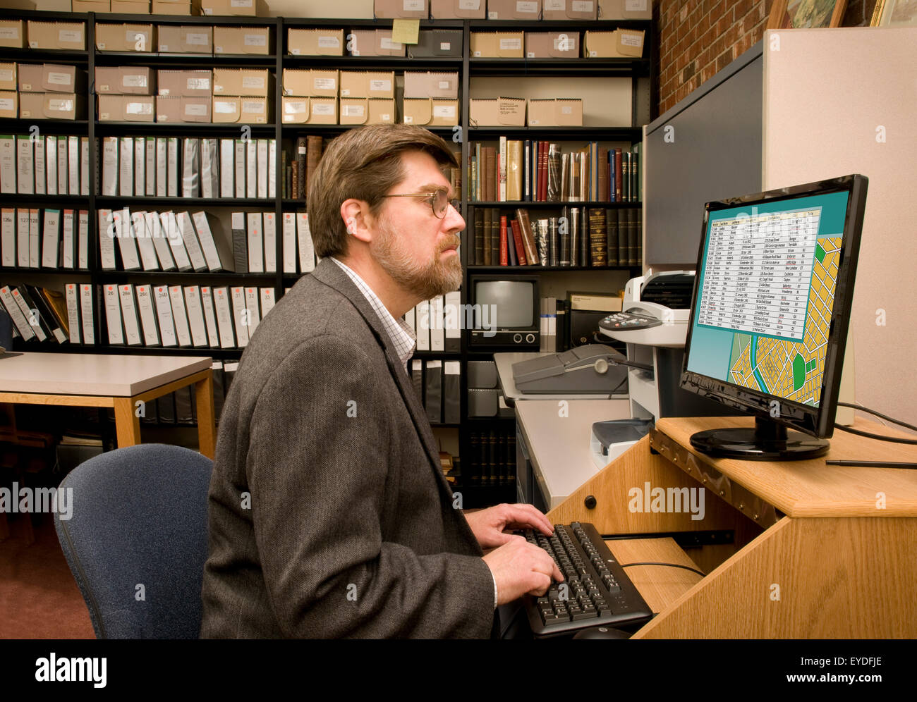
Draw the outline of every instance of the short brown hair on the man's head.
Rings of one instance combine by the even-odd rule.
[[[404,180],[401,155],[407,151],[425,151],[440,166],[458,167],[447,142],[422,126],[359,126],[328,144],[307,200],[309,230],[319,257],[347,254],[341,203],[350,198],[363,200],[369,203],[370,213],[376,214],[381,196]]]

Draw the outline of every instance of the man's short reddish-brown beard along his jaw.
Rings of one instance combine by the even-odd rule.
[[[461,260],[458,250],[445,261],[440,255],[447,248],[458,246],[458,236],[441,244],[433,258],[424,264],[411,260],[401,238],[388,220],[380,222],[381,236],[375,239],[372,257],[401,288],[414,293],[420,300],[457,291],[461,285]]]

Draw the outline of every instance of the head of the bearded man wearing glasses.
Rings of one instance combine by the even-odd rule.
[[[447,166],[458,166],[447,143],[422,127],[372,125],[337,137],[309,189],[315,253],[381,269],[418,300],[458,289],[465,221],[443,206],[455,195]]]

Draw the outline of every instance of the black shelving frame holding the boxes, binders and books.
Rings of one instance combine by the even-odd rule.
[[[94,13],[63,13],[47,11],[19,11],[0,9],[0,19],[35,19],[43,21],[82,21],[85,26],[87,49],[78,50],[38,50],[38,49],[0,49],[0,61],[16,61],[17,63],[62,63],[76,65],[86,71],[88,81],[84,93],[87,115],[84,119],[76,120],[50,120],[50,119],[0,119],[0,134],[28,134],[32,126],[39,126],[42,134],[66,134],[88,137],[89,144],[89,192],[86,195],[21,195],[17,202],[23,206],[35,208],[60,207],[69,209],[85,209],[89,217],[89,267],[86,269],[30,269],[30,268],[0,268],[0,283],[15,285],[29,283],[40,286],[62,287],[63,282],[80,282],[90,284],[94,291],[94,346],[50,345],[41,346],[34,343],[24,343],[17,339],[14,348],[41,351],[84,351],[104,352],[116,354],[174,354],[174,355],[210,355],[216,360],[233,361],[241,356],[241,348],[214,348],[201,346],[187,347],[149,347],[149,346],[113,346],[107,343],[105,304],[102,300],[101,286],[114,283],[133,283],[149,285],[209,285],[230,286],[233,284],[245,286],[269,287],[274,291],[274,299],[279,301],[284,290],[291,287],[302,275],[301,273],[283,272],[282,236],[280,223],[284,213],[304,210],[304,202],[299,198],[283,197],[285,173],[282,170],[281,154],[286,151],[293,153],[296,137],[321,136],[326,139],[333,138],[346,129],[348,125],[298,125],[282,124],[281,96],[282,72],[284,69],[339,69],[359,71],[395,71],[400,75],[403,71],[457,71],[458,72],[458,126],[433,126],[431,131],[454,143],[461,149],[463,169],[463,199],[461,212],[469,225],[473,225],[470,214],[474,207],[500,208],[507,214],[517,207],[531,209],[533,216],[550,216],[560,214],[560,208],[568,207],[602,207],[613,210],[622,207],[641,207],[642,203],[609,203],[609,202],[470,202],[468,196],[467,165],[470,157],[470,143],[472,141],[492,141],[499,137],[512,137],[514,139],[544,139],[559,141],[569,144],[585,143],[588,141],[601,141],[602,143],[620,144],[630,148],[642,138],[642,125],[649,122],[653,109],[649,105],[650,98],[656,90],[657,80],[657,50],[654,46],[652,22],[634,20],[597,20],[597,21],[495,21],[495,20],[433,20],[420,21],[421,30],[425,29],[451,29],[459,30],[462,37],[461,55],[457,57],[430,57],[412,58],[392,56],[304,56],[288,53],[288,30],[293,28],[310,27],[340,27],[348,32],[356,29],[392,27],[391,19],[325,19],[325,18],[290,18],[290,17],[243,17],[243,16],[156,16],[156,15],[121,15]],[[95,28],[104,23],[130,23],[162,25],[195,25],[211,27],[268,27],[270,40],[268,53],[264,55],[238,55],[238,54],[176,54],[159,53],[158,51],[133,52],[133,51],[103,51],[95,48]],[[571,31],[582,33],[586,29],[607,29],[618,27],[644,29],[645,46],[643,57],[640,59],[481,59],[470,56],[470,33],[485,30],[525,30],[544,31]],[[157,47],[154,47],[157,48]],[[347,51],[345,51],[347,53]],[[212,68],[246,68],[267,69],[270,71],[272,85],[273,114],[269,115],[265,124],[250,124],[252,137],[263,137],[275,140],[277,148],[276,159],[276,192],[269,198],[186,198],[169,196],[112,196],[103,195],[101,192],[101,141],[103,137],[238,137],[238,124],[211,124],[211,123],[138,123],[138,122],[111,122],[100,121],[96,115],[94,73],[97,66],[148,66],[151,70],[158,69],[212,69]],[[526,80],[566,80],[588,79],[598,82],[614,78],[620,82],[629,83],[627,94],[630,104],[619,105],[621,113],[629,118],[619,119],[619,124],[602,124],[594,120],[584,122],[580,127],[496,127],[496,126],[470,126],[469,108],[470,97],[475,91],[477,82],[504,81],[510,86],[515,79],[524,76]],[[580,86],[582,83],[575,83]],[[511,87],[507,88],[509,94]],[[646,101],[642,104],[641,100]],[[396,96],[396,101],[397,100]],[[289,161],[288,161],[289,162]],[[270,273],[233,273],[233,272],[194,272],[194,271],[144,271],[144,270],[111,270],[103,269],[100,253],[98,233],[99,210],[115,209],[116,207],[130,207],[136,209],[193,211],[198,208],[205,211],[228,213],[235,210],[246,212],[272,212],[278,223],[278,236],[276,241],[277,270]],[[556,211],[556,212],[555,212]],[[468,230],[466,230],[468,232]],[[462,284],[461,302],[465,303],[468,290],[469,276],[475,273],[502,273],[507,276],[517,274],[537,275],[545,280],[558,276],[563,279],[564,273],[574,272],[580,276],[581,284],[578,289],[591,287],[593,281],[602,281],[606,289],[617,290],[622,288],[624,281],[638,274],[640,266],[602,267],[589,266],[577,267],[502,267],[502,266],[474,266],[472,247],[467,246],[470,238],[466,236],[461,247],[464,277]],[[469,256],[471,255],[471,259]],[[611,277],[611,278],[610,278]],[[613,279],[613,280],[612,280]],[[612,280],[609,282],[609,280]],[[602,286],[599,286],[602,287]],[[550,286],[548,285],[549,289]],[[467,419],[467,362],[470,359],[491,357],[492,350],[470,349],[467,334],[461,335],[460,351],[456,352],[428,352],[418,351],[415,358],[458,360],[462,364],[461,370],[461,416],[463,422],[438,424],[453,433],[453,438],[448,445],[458,446],[458,455],[463,459],[470,455],[470,432],[481,431],[488,426],[500,426],[502,430],[511,431],[512,421],[493,418],[492,420]],[[509,427],[509,429],[507,429]],[[437,429],[438,431],[438,429]],[[457,441],[455,433],[458,433]],[[514,456],[510,456],[514,464]],[[463,460],[463,465],[465,462]],[[464,504],[466,507],[481,506],[503,500],[514,500],[514,488],[489,486],[460,485],[458,489],[464,491]]]

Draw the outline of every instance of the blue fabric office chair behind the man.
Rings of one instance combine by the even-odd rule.
[[[55,512],[54,527],[96,638],[198,637],[212,468],[189,449],[140,444],[63,479],[72,512]]]

